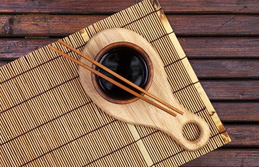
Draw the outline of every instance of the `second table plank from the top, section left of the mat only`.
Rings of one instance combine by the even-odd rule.
[[[2,15],[1,35],[66,36],[105,17],[107,15]]]

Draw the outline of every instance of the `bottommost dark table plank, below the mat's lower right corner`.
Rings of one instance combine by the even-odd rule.
[[[219,148],[182,166],[258,166],[259,150]]]

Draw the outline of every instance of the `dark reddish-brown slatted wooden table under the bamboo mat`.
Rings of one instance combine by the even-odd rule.
[[[0,66],[136,0],[0,1]],[[233,140],[184,166],[259,164],[259,1],[160,0]]]

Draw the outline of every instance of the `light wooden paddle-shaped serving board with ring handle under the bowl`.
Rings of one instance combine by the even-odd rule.
[[[171,136],[176,143],[180,144],[185,150],[196,151],[203,148],[210,138],[209,126],[205,120],[198,117],[196,114],[191,113],[191,111],[188,111],[175,99],[166,79],[166,72],[164,71],[164,65],[161,58],[145,38],[128,29],[106,29],[97,33],[88,41],[83,53],[95,59],[95,56],[102,51],[104,47],[116,42],[130,42],[141,47],[141,49],[148,54],[153,72],[152,84],[148,89],[148,92],[161,98],[165,102],[168,102],[168,104],[173,105],[177,109],[180,109],[184,114],[178,114],[175,117],[171,116],[143,100],[136,100],[135,102],[130,102],[128,104],[115,104],[114,102],[109,102],[97,92],[91,79],[92,72],[80,66],[79,78],[84,90],[86,90],[86,93],[91,97],[91,100],[93,100],[102,111],[113,118],[133,125],[154,127],[155,129],[166,132],[166,134]],[[92,65],[92,63],[85,58],[81,57],[80,61],[90,67]],[[147,95],[145,96],[147,97]],[[188,123],[198,125],[198,129],[201,131],[201,134],[195,141],[189,141],[183,136],[182,129]]]

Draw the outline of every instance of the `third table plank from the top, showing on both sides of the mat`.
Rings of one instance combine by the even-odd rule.
[[[0,60],[15,60],[58,38],[1,38]],[[259,58],[259,38],[178,38],[190,58]]]

